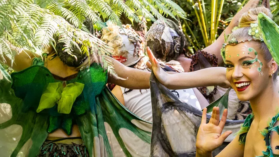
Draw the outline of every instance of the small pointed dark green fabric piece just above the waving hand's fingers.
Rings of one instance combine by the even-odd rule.
[[[220,111],[220,115],[222,115],[224,109],[228,109],[228,96],[229,96],[230,90],[231,90],[231,88],[229,88],[226,91],[226,93],[223,96],[221,96],[219,99],[217,99],[213,103],[210,103],[210,105],[206,107],[207,108],[207,113],[212,112],[213,107],[218,106],[219,111]]]

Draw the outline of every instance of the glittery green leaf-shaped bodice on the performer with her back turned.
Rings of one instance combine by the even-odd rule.
[[[90,111],[90,109],[95,109],[95,97],[101,93],[106,85],[107,72],[104,71],[99,64],[94,63],[89,69],[80,71],[74,79],[62,82],[54,79],[53,75],[46,67],[34,65],[20,72],[12,73],[11,78],[12,89],[14,90],[15,96],[23,100],[22,112],[32,110],[48,116],[48,133],[62,128],[70,135],[72,133],[71,128],[74,117],[85,114],[87,111]],[[66,93],[64,96],[63,93],[57,91],[53,93],[48,92],[51,85],[53,87],[53,84],[61,85],[62,83],[66,83],[68,87],[77,84],[84,85],[84,87],[81,93],[76,94],[76,98],[71,96],[74,95],[72,93],[74,93],[73,91],[76,91],[76,89],[73,88],[76,86],[71,87],[72,90],[69,90],[68,94],[64,92],[66,86],[63,89],[63,93]],[[51,107],[45,109],[38,108],[39,104],[42,106],[42,102],[50,103],[50,97],[54,98],[57,96],[57,93],[61,94],[61,96],[58,97],[59,101],[57,101],[57,105],[43,104],[44,106]],[[61,112],[61,101],[64,101],[63,107],[67,108],[69,114]]]

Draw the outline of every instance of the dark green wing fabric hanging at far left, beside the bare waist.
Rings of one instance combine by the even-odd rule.
[[[0,64],[0,69],[3,67]],[[11,82],[6,78],[9,78],[9,74],[6,71],[0,71],[0,76],[5,75],[7,77],[0,77],[0,103],[7,103],[12,109],[12,118],[8,121],[0,124],[0,130],[5,129],[14,124],[20,125],[22,127],[22,135],[14,148],[11,157],[16,157],[20,152],[24,144],[31,139],[32,145],[29,149],[29,154],[25,154],[28,157],[34,157],[39,152],[40,146],[45,141],[48,133],[46,132],[48,123],[47,116],[39,115],[34,111],[28,110],[22,112],[23,101],[17,98],[14,94],[14,90],[11,88]],[[1,117],[0,117],[1,118]],[[38,133],[40,132],[40,133]],[[1,140],[0,140],[1,142]]]

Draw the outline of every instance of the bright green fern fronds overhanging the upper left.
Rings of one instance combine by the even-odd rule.
[[[95,61],[113,73],[111,63],[100,57],[110,48],[92,30],[93,25],[104,27],[106,20],[121,25],[121,14],[132,22],[141,22],[140,17],[186,18],[171,0],[0,0],[0,57],[13,61],[21,49],[42,54],[50,45],[62,43],[64,53],[74,56],[73,48],[79,48],[88,57],[94,54]]]

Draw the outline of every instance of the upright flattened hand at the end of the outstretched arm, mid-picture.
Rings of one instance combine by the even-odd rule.
[[[159,62],[154,57],[154,55],[149,47],[146,48],[146,51],[147,51],[147,54],[149,57],[149,61],[152,64],[152,70],[153,70],[154,75],[159,80],[159,82],[161,82],[163,85],[167,85],[167,80],[168,80],[169,74],[167,74],[163,69],[160,68]]]

